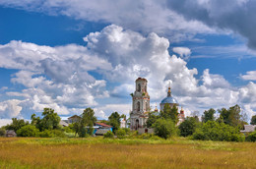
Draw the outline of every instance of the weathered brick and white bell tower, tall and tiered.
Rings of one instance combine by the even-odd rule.
[[[144,128],[149,118],[150,111],[150,95],[147,90],[148,81],[144,78],[138,78],[135,81],[135,91],[132,94],[133,105],[130,114],[131,130]]]

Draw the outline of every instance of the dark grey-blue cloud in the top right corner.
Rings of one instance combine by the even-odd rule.
[[[256,48],[256,1],[248,0],[172,0],[168,8],[188,21],[200,21],[212,28],[238,32],[248,40],[250,48]]]

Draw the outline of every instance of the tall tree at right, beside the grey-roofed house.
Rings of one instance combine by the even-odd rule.
[[[223,119],[224,124],[238,127],[239,129],[243,128],[244,122],[242,121],[241,108],[236,104],[229,109],[218,110],[220,112],[220,118]]]

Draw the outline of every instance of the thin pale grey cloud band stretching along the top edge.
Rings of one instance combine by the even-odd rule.
[[[100,4],[100,5],[98,5]],[[48,15],[63,15],[78,20],[115,24],[123,28],[170,37],[172,41],[192,40],[196,33],[215,33],[199,21],[186,21],[166,8],[165,0],[2,0],[0,5]]]

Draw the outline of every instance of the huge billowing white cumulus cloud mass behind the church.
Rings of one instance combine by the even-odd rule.
[[[87,46],[49,47],[22,41],[0,45],[0,66],[18,69],[11,82],[26,87],[6,92],[21,97],[22,102],[15,102],[18,110],[21,106],[34,111],[52,107],[67,115],[80,114],[90,106],[101,118],[113,111],[128,114],[135,80],[144,77],[154,103],[166,96],[170,83],[173,96],[188,113],[236,103],[250,114],[256,111],[254,83],[237,88],[208,69],[197,79],[197,69],[189,69],[182,57],[170,56],[168,39],[157,33],[143,35],[111,25],[84,40]],[[8,112],[12,104],[4,102],[1,106],[2,112]]]

